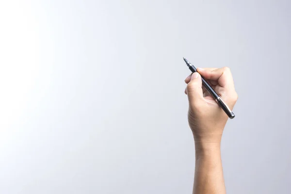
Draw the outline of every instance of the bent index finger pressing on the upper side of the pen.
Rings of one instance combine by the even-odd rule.
[[[202,69],[197,68],[197,71],[203,76],[205,79],[212,81],[217,81],[221,87],[227,89],[234,89],[233,79],[228,67],[217,68],[217,69]]]

